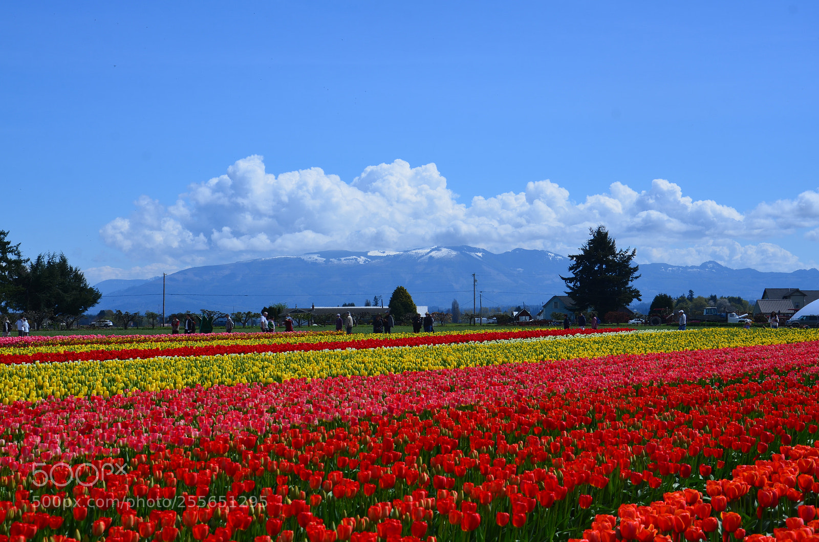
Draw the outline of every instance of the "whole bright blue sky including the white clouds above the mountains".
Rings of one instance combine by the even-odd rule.
[[[816,3],[442,3],[6,2],[0,228],[91,282],[595,224],[817,265]]]

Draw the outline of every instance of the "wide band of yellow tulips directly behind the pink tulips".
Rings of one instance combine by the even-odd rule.
[[[20,364],[0,366],[0,399],[9,404],[50,395],[57,398],[109,396],[134,390],[158,391],[197,385],[207,388],[249,382],[270,384],[291,378],[364,376],[817,340],[819,330],[717,328],[366,350]]]

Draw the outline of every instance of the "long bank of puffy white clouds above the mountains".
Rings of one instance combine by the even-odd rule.
[[[474,197],[468,205],[446,186],[436,165],[404,160],[373,165],[351,183],[311,168],[268,174],[261,156],[238,160],[226,174],[188,186],[171,206],[142,196],[127,217],[100,230],[107,245],[140,260],[181,266],[307,251],[400,251],[467,244],[567,254],[588,229],[604,224],[618,245],[642,261],[797,269],[795,255],[771,244],[783,233],[819,226],[819,192],[762,203],[743,215],[717,201],[694,201],[655,179],[647,190],[613,183],[609,192],[572,200],[549,180],[523,192]],[[806,233],[819,240],[819,229]],[[744,244],[743,244],[744,242]]]

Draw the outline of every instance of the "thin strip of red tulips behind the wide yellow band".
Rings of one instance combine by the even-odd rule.
[[[337,341],[319,342],[285,342],[285,343],[239,343],[232,345],[215,346],[174,346],[174,347],[147,347],[126,348],[121,350],[87,350],[81,352],[35,352],[34,354],[6,354],[0,355],[0,364],[31,364],[62,363],[67,361],[86,361],[96,359],[136,359],[163,356],[195,356],[195,355],[225,355],[251,353],[278,353],[315,350],[344,350],[347,348],[364,349],[391,346],[422,346],[422,345],[452,345],[464,342],[500,341],[508,339],[530,339],[545,336],[593,335],[600,333],[628,331],[627,328],[607,329],[527,329],[514,332],[477,332],[453,334],[423,334],[404,337],[366,336],[367,338],[349,338],[341,340],[345,335],[336,335]],[[256,335],[258,336],[258,335]],[[302,335],[305,336],[305,335]],[[164,339],[163,339],[164,340]]]

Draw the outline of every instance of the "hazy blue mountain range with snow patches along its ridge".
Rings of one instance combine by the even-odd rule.
[[[384,296],[387,305],[396,286],[406,287],[417,305],[448,308],[457,299],[462,311],[471,311],[473,273],[476,290],[483,292],[484,306],[538,306],[551,296],[563,294],[565,286],[559,275],[565,276],[569,263],[565,256],[548,251],[515,249],[493,254],[473,246],[275,256],[168,275],[165,314],[199,309],[257,310],[278,302],[301,307],[349,302],[360,306],[376,295]],[[762,296],[766,287],[819,289],[817,269],[762,273],[705,262],[696,266],[641,264],[640,274],[636,286],[643,300],[648,301],[661,292],[679,296],[689,289],[695,295],[747,299]],[[129,281],[103,281],[97,287],[106,282]],[[120,286],[124,287],[102,292],[100,309],[161,312],[161,278]]]

